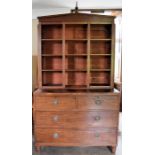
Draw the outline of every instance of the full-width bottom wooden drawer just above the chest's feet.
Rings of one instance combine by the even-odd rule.
[[[116,130],[63,130],[36,129],[36,142],[49,143],[53,146],[107,146],[116,145]]]

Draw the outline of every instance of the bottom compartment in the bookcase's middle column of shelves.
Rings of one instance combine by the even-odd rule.
[[[86,86],[87,73],[86,72],[66,72],[66,86]]]

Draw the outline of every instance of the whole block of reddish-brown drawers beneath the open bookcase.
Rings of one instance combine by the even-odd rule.
[[[34,101],[37,143],[53,146],[116,144],[119,95],[38,94]]]

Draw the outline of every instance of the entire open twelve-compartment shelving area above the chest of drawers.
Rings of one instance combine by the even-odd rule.
[[[111,29],[111,24],[42,25],[42,87],[110,89],[113,72]]]

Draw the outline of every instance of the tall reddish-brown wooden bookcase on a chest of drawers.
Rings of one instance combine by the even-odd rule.
[[[120,94],[114,90],[114,17],[39,17],[35,145],[117,146]]]

